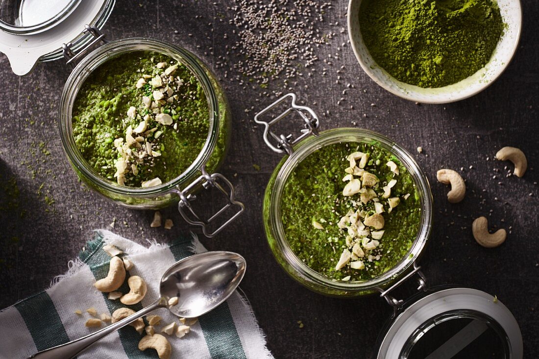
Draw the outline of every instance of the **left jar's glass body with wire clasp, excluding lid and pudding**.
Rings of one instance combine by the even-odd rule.
[[[208,137],[193,163],[175,179],[148,188],[120,186],[103,178],[82,157],[73,137],[73,104],[85,80],[106,61],[133,51],[162,53],[189,68],[204,89],[210,113]],[[222,87],[220,87],[216,76],[194,54],[165,41],[150,38],[126,38],[100,46],[84,57],[74,68],[60,97],[58,126],[64,150],[75,172],[85,184],[96,192],[122,206],[135,209],[157,209],[179,201],[179,210],[184,218],[191,224],[200,225],[201,220],[192,211],[189,201],[195,198],[193,193],[202,186],[217,187],[229,199],[228,205],[238,205],[243,210],[243,205],[233,199],[233,188],[230,182],[222,175],[213,173],[224,159],[229,143],[230,122],[230,108]],[[188,219],[184,208],[182,208],[184,206],[190,210],[195,220]]]

